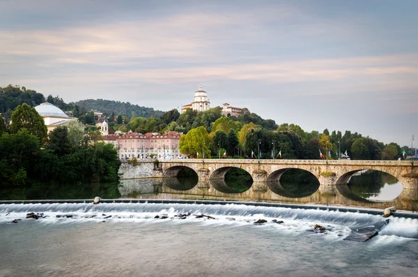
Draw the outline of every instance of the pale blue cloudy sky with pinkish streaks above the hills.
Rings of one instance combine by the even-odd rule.
[[[418,146],[418,1],[0,0],[0,87]],[[415,146],[414,146],[415,147]]]

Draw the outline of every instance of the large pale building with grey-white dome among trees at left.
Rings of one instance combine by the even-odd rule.
[[[44,119],[45,125],[48,128],[48,133],[54,128],[64,125],[75,118],[68,117],[59,107],[52,105],[49,102],[42,103],[35,107],[36,112]]]

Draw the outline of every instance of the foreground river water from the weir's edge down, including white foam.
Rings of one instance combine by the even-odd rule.
[[[185,213],[214,219],[176,216]],[[0,276],[418,276],[416,218],[344,240],[384,221],[251,204],[0,204]]]

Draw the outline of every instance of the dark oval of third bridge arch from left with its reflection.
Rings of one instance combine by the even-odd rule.
[[[320,184],[311,172],[297,168],[285,168],[270,174],[267,185],[273,193],[278,195],[300,198],[314,194]]]

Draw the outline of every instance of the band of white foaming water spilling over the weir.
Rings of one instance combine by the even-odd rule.
[[[230,225],[268,228],[286,234],[315,234],[315,224],[327,228],[327,237],[343,239],[351,229],[381,223],[382,216],[341,211],[323,211],[320,209],[291,209],[284,207],[256,207],[242,204],[179,204],[179,203],[50,203],[50,204],[0,204],[0,224],[11,223],[13,219],[26,222],[29,212],[43,213],[46,218],[36,220],[40,224],[68,224],[75,222],[106,220],[111,223],[133,222],[145,224],[202,224]],[[177,214],[205,214],[216,219],[189,216],[180,220]],[[72,215],[71,218],[56,218],[59,215]],[[167,214],[167,219],[154,219],[157,215]],[[105,216],[111,218],[104,218]],[[253,225],[258,219],[268,220],[264,225]],[[272,220],[284,223],[273,223]],[[29,218],[27,220],[34,220]],[[418,239],[418,220],[411,218],[389,218],[389,224],[380,232],[382,237]]]

